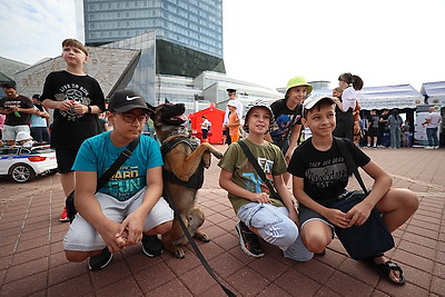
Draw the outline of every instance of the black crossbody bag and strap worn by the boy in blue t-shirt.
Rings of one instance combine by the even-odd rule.
[[[98,179],[96,186],[96,192],[108,182],[108,180],[116,174],[116,171],[122,166],[122,164],[131,156],[131,152],[138,146],[140,137],[135,138],[125,150],[119,155],[116,161],[103,172],[103,175]],[[72,222],[76,217],[77,209],[75,205],[75,190],[72,190],[65,199],[65,205],[67,207],[67,215]]]

